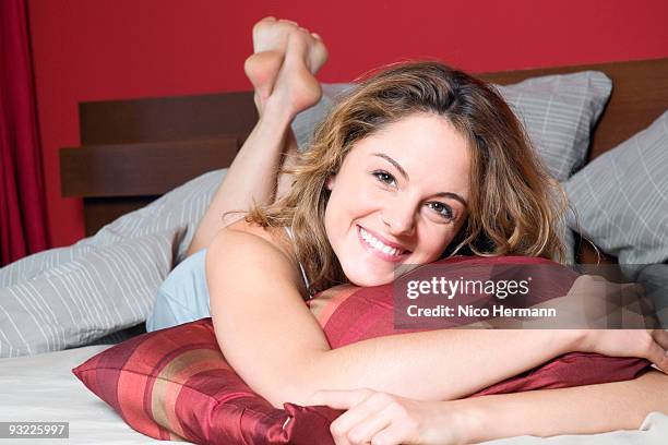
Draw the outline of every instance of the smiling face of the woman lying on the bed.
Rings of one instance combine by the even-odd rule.
[[[348,279],[383,285],[399,264],[437,260],[466,219],[468,176],[466,140],[439,116],[357,142],[326,183],[325,230]]]

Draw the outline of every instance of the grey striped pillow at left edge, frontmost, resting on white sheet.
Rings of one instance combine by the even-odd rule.
[[[87,345],[141,323],[171,267],[175,233],[93,249],[0,289],[0,357]]]

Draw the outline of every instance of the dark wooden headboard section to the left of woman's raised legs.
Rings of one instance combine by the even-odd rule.
[[[258,113],[252,92],[79,105],[81,147],[60,149],[63,196],[86,236],[206,171],[228,167]]]

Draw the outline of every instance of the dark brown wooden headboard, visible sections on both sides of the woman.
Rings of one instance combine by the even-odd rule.
[[[668,108],[668,58],[478,76],[511,84],[584,70],[605,72],[613,87],[594,129],[588,160]],[[83,103],[79,112],[82,146],[60,151],[61,191],[83,197],[86,236],[191,178],[228,167],[258,119],[252,92]],[[582,243],[580,260],[598,257]]]

